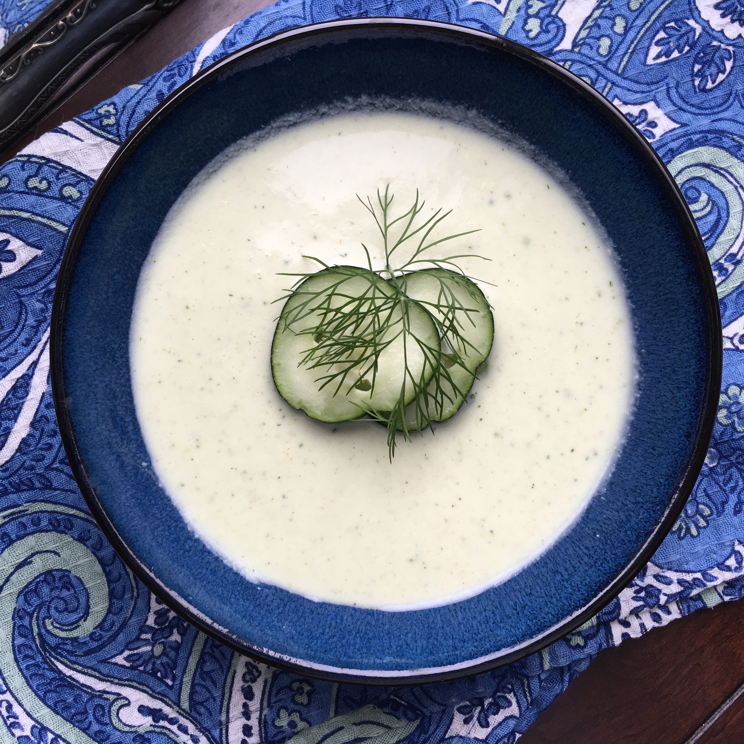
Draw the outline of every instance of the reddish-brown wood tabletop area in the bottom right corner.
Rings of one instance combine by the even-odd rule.
[[[744,601],[725,603],[601,652],[519,744],[683,744],[744,682],[743,627]],[[696,744],[742,725],[744,696]]]

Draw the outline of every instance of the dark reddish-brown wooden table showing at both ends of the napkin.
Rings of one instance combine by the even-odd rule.
[[[267,0],[184,0],[11,150],[138,83]],[[744,682],[744,600],[699,610],[602,652],[520,744],[684,744]],[[744,695],[699,744],[744,741]]]

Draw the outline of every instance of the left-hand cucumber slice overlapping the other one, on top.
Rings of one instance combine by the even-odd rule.
[[[402,393],[410,403],[432,379],[439,334],[429,312],[409,300],[403,310],[394,295],[379,275],[358,266],[332,266],[305,279],[287,299],[272,342],[272,375],[281,397],[327,422],[356,419],[365,411],[391,411]],[[361,321],[341,324],[334,312],[339,308],[355,310]],[[388,330],[374,339],[379,320]],[[319,327],[322,333],[316,332]],[[352,335],[368,340],[348,350]]]

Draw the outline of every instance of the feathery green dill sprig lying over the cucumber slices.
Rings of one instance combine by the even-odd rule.
[[[407,423],[406,411],[414,407],[416,430],[429,427],[433,431],[432,418],[443,411],[446,401],[452,403],[454,397],[462,396],[450,370],[459,366],[468,371],[465,357],[469,350],[475,350],[464,336],[465,324],[475,326],[474,315],[480,312],[477,303],[465,307],[455,295],[449,281],[459,283],[472,294],[472,284],[458,261],[465,258],[483,258],[476,254],[458,253],[437,257],[432,249],[460,237],[478,232],[468,230],[444,237],[434,234],[452,211],[434,211],[426,219],[418,219],[426,202],[420,200],[418,190],[413,205],[404,214],[393,217],[391,205],[394,196],[377,190],[377,203],[368,197],[366,202],[357,199],[373,217],[385,254],[385,266],[375,269],[368,247],[362,243],[367,259],[366,267],[328,266],[320,259],[304,256],[323,266],[321,272],[333,273],[334,279],[318,290],[303,290],[302,286],[289,290],[277,301],[294,297],[292,310],[283,316],[284,330],[308,336],[312,344],[302,353],[298,366],[318,371],[318,390],[333,386],[336,396],[348,385],[374,394],[379,361],[382,353],[392,344],[403,348],[403,381],[400,394],[390,410],[379,411],[354,403],[360,413],[368,414],[368,419],[384,424],[388,429],[388,456],[392,462],[397,432],[404,440],[410,440],[411,432]],[[403,248],[411,247],[407,260],[395,263]],[[449,280],[440,279],[440,289],[435,301],[413,300],[406,293],[407,278],[420,268],[449,269]],[[318,272],[285,274],[298,278],[294,286]],[[350,292],[352,280],[361,281],[362,289],[356,287]],[[356,286],[356,285],[355,285]],[[437,345],[422,339],[415,330],[412,315],[426,310],[434,321],[439,336]],[[310,324],[308,320],[312,320]],[[476,350],[477,351],[477,350]],[[411,359],[423,359],[414,365]],[[356,379],[355,381],[355,378]],[[411,397],[411,391],[413,393]]]

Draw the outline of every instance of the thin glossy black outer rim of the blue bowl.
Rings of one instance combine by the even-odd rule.
[[[169,589],[157,576],[137,557],[129,548],[123,537],[115,527],[109,513],[103,506],[103,502],[98,498],[97,493],[89,479],[86,466],[80,452],[77,448],[74,427],[72,425],[69,409],[68,397],[65,388],[65,370],[64,359],[62,355],[62,338],[64,332],[65,307],[68,299],[68,289],[74,272],[74,266],[77,257],[80,254],[80,248],[86,237],[91,219],[103,199],[104,194],[118,175],[129,157],[135,153],[135,150],[141,145],[150,131],[157,126],[160,121],[170,115],[183,100],[196,92],[201,86],[211,82],[223,73],[228,73],[230,68],[239,64],[241,61],[248,59],[254,54],[266,51],[267,48],[280,46],[292,41],[312,40],[312,37],[322,39],[324,34],[329,37],[333,31],[341,29],[364,31],[365,28],[371,31],[388,31],[390,33],[398,32],[401,35],[411,35],[411,33],[429,33],[431,36],[465,43],[467,45],[477,45],[481,48],[497,49],[501,52],[507,52],[519,58],[522,61],[535,65],[542,71],[557,77],[562,83],[565,83],[575,92],[579,93],[594,109],[598,109],[600,114],[609,119],[620,130],[620,134],[629,140],[634,149],[641,155],[646,164],[655,173],[655,176],[664,187],[667,198],[672,202],[676,211],[676,217],[682,225],[685,237],[693,246],[693,259],[697,264],[700,274],[703,278],[705,289],[705,307],[706,321],[708,324],[708,333],[711,339],[711,367],[708,369],[708,385],[705,391],[703,401],[703,415],[700,417],[699,426],[694,432],[694,446],[690,461],[687,463],[687,469],[677,487],[676,493],[670,499],[670,504],[664,516],[658,521],[654,530],[647,537],[646,542],[638,548],[635,556],[626,564],[623,571],[618,577],[606,586],[606,588],[597,594],[590,603],[574,612],[568,618],[557,623],[557,625],[548,629],[542,635],[531,638],[529,641],[517,647],[511,647],[504,650],[503,653],[493,655],[487,660],[475,659],[472,664],[458,664],[456,668],[442,667],[431,670],[411,670],[406,672],[385,672],[373,671],[371,673],[360,674],[357,670],[344,670],[335,667],[319,667],[312,662],[301,659],[289,658],[279,655],[277,652],[265,647],[258,647],[249,643],[244,638],[232,633],[229,629],[215,623],[195,607],[191,606],[183,597]],[[328,39],[331,40],[330,38]],[[124,560],[132,572],[147,586],[153,594],[162,600],[173,612],[176,612],[182,618],[195,626],[206,635],[211,636],[222,644],[225,644],[231,650],[247,655],[256,661],[269,664],[272,667],[278,667],[281,670],[298,673],[303,676],[310,676],[315,679],[321,679],[328,682],[347,682],[351,684],[370,684],[370,685],[387,685],[401,686],[426,684],[432,682],[447,682],[453,679],[462,679],[464,677],[475,676],[504,664],[510,664],[518,661],[525,656],[542,650],[549,644],[562,638],[578,626],[582,625],[597,614],[603,607],[611,602],[641,571],[641,568],[647,564],[656,548],[661,545],[664,537],[671,529],[673,523],[679,516],[684,507],[687,497],[692,493],[693,486],[699,475],[700,469],[705,461],[705,455],[708,451],[708,443],[713,433],[713,425],[716,420],[716,411],[718,397],[722,379],[723,365],[723,342],[722,327],[718,299],[716,295],[716,285],[713,279],[713,272],[708,261],[708,254],[705,250],[705,244],[702,241],[695,219],[693,218],[687,202],[682,196],[673,176],[667,170],[664,162],[651,147],[647,139],[641,135],[641,132],[630,123],[628,118],[623,115],[609,100],[600,92],[597,92],[588,83],[582,80],[573,72],[567,70],[562,65],[557,64],[539,54],[532,49],[525,47],[517,42],[510,41],[501,36],[496,36],[485,31],[479,31],[466,26],[461,26],[447,22],[434,22],[422,19],[398,18],[394,16],[376,17],[376,18],[354,18],[343,19],[330,22],[315,23],[312,25],[300,26],[290,31],[267,36],[246,45],[237,51],[223,57],[207,68],[199,71],[194,77],[187,80],[175,91],[170,93],[158,106],[150,112],[147,117],[141,121],[132,133],[126,138],[121,147],[116,151],[103,172],[96,180],[92,190],[89,193],[86,202],[80,210],[80,214],[74,223],[68,239],[65,253],[62,257],[60,272],[57,277],[57,286],[54,292],[54,303],[51,314],[51,333],[50,333],[50,356],[51,356],[51,388],[54,398],[54,409],[57,412],[57,421],[60,426],[62,444],[65,448],[68,461],[70,463],[73,475],[77,481],[83,498],[88,504],[94,518],[100,526],[106,539],[111,542],[115,551]]]

